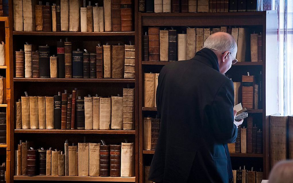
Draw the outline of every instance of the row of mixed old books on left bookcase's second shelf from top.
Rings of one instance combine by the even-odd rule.
[[[52,49],[52,48],[51,48]],[[51,50],[52,51],[52,50]],[[134,78],[135,45],[100,45],[96,52],[77,49],[71,42],[57,42],[57,56],[50,46],[32,45],[15,52],[16,78]]]

